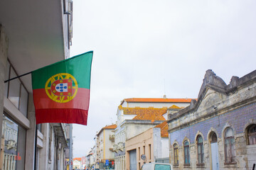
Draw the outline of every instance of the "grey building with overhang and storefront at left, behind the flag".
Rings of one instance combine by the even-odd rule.
[[[36,126],[31,76],[6,80],[69,57],[72,10],[68,0],[0,2],[0,169],[65,169],[68,126]]]

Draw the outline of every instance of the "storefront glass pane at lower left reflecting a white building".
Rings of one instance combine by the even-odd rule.
[[[3,115],[3,169],[23,170],[25,165],[26,130]]]

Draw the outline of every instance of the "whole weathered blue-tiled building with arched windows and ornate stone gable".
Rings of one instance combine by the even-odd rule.
[[[252,169],[255,120],[256,71],[227,85],[207,70],[198,101],[169,114],[174,169]]]

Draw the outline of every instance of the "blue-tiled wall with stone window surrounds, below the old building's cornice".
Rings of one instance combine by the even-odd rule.
[[[171,146],[173,146],[174,142],[178,143],[178,161],[180,166],[183,166],[183,141],[184,139],[189,140],[190,142],[190,155],[191,155],[191,167],[196,168],[197,164],[197,152],[196,152],[196,136],[198,132],[203,136],[204,142],[204,151],[205,151],[205,167],[206,169],[210,169],[210,140],[209,135],[210,132],[214,131],[218,137],[218,151],[219,151],[219,163],[220,169],[224,169],[226,167],[233,167],[232,169],[238,169],[240,167],[244,167],[245,169],[250,166],[252,168],[252,162],[256,162],[255,153],[256,146],[255,145],[246,145],[245,141],[245,127],[247,127],[248,123],[256,123],[255,121],[256,114],[256,103],[252,103],[249,106],[244,106],[235,111],[230,111],[223,115],[215,116],[214,118],[210,118],[208,120],[202,121],[200,123],[196,123],[194,125],[188,126],[181,130],[176,130],[175,132],[171,132]],[[245,115],[245,116],[241,116]],[[235,130],[235,150],[236,150],[236,159],[237,164],[224,164],[225,153],[224,153],[224,145],[223,145],[223,133],[225,128],[228,126],[232,126]],[[250,148],[250,149],[247,149]],[[249,153],[247,154],[247,152]],[[170,157],[173,162],[174,152],[171,149]],[[250,160],[250,162],[246,162],[246,160]],[[247,164],[247,165],[246,165]],[[186,167],[186,166],[185,166]],[[247,168],[246,168],[247,167]]]

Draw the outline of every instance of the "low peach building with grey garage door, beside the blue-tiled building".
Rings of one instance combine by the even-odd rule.
[[[169,163],[168,124],[166,121],[130,138],[125,143],[127,169],[141,169],[150,162]]]

